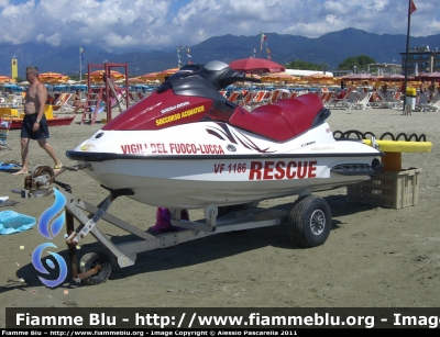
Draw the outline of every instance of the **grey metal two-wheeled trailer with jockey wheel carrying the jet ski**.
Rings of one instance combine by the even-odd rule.
[[[80,166],[63,167],[63,171],[77,171]],[[204,210],[205,220],[189,221],[180,218],[182,210],[169,210],[172,232],[160,233],[140,229],[128,222],[108,212],[111,203],[119,196],[132,195],[131,189],[109,190],[109,195],[97,206],[84,199],[72,194],[68,184],[59,182],[50,167],[36,167],[31,176],[25,178],[24,190],[13,190],[21,193],[22,198],[38,198],[53,195],[65,198],[65,223],[67,234],[66,245],[69,254],[69,269],[75,282],[85,284],[100,284],[107,281],[111,273],[111,262],[103,252],[87,252],[79,259],[77,248],[81,239],[88,234],[92,235],[112,255],[120,268],[133,266],[140,252],[168,248],[189,240],[207,237],[215,234],[253,229],[280,225],[287,222],[287,229],[292,240],[301,248],[322,245],[331,227],[331,213],[327,202],[319,196],[299,195],[293,207],[274,206],[270,209],[257,207],[257,202],[234,206],[217,207],[213,204]],[[52,186],[58,184],[58,187]],[[105,188],[105,187],[103,187]],[[221,212],[219,216],[219,211]],[[229,212],[228,212],[229,211]],[[87,212],[87,214],[85,214]],[[223,215],[224,214],[224,215]],[[79,226],[75,228],[75,220]],[[106,221],[121,229],[135,235],[138,238],[122,244],[112,243],[99,228],[98,222]]]

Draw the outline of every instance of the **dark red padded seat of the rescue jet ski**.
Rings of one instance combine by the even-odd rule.
[[[241,111],[232,114],[228,123],[276,142],[285,142],[309,130],[322,110],[319,97],[308,93],[295,99],[280,99],[274,104],[260,105],[252,112],[241,108]],[[318,120],[321,121],[322,117]]]

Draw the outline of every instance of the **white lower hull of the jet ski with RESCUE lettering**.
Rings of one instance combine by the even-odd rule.
[[[216,132],[227,131],[220,138]],[[369,179],[380,151],[337,142],[327,123],[289,142],[271,142],[213,122],[162,131],[99,131],[68,151],[92,179],[168,209],[232,205],[332,189]],[[199,135],[197,141],[188,135]],[[322,136],[324,135],[324,136]],[[310,142],[310,139],[314,139]],[[308,141],[308,142],[307,142]],[[343,173],[341,166],[358,167]],[[333,170],[332,170],[333,169]]]

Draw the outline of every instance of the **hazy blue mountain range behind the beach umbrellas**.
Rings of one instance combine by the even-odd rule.
[[[312,64],[327,64],[328,70],[337,69],[345,58],[361,54],[373,57],[376,63],[400,64],[406,49],[406,35],[373,34],[355,29],[324,34],[318,38],[299,35],[267,33],[267,44],[272,60],[287,64],[293,60],[306,60]],[[425,37],[410,37],[410,47],[438,47],[440,34]],[[52,47],[44,44],[26,43],[21,45],[0,45],[0,75],[11,74],[11,58],[19,61],[19,76],[24,77],[26,66],[35,65],[40,71],[55,71],[66,75],[87,72],[87,65],[103,63],[128,64],[129,74],[142,75],[177,67],[176,49],[118,49],[105,50],[95,45],[82,45],[82,60],[79,59],[79,46]],[[266,58],[265,46],[260,49],[260,35],[235,36],[224,35],[210,37],[195,46],[190,46],[191,58],[187,50],[180,50],[183,63],[189,59],[205,64],[219,59],[229,63],[234,59],[255,57]],[[96,70],[97,68],[94,68]]]

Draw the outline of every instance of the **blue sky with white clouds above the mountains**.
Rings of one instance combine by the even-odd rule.
[[[212,36],[261,32],[319,37],[354,27],[406,34],[408,1],[0,0],[0,44],[96,44],[111,52],[190,47]],[[410,35],[440,34],[440,0],[414,2]]]

